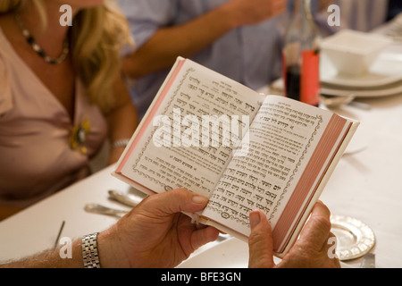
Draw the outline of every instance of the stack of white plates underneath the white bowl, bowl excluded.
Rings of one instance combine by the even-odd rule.
[[[339,73],[325,54],[321,58],[321,93],[330,96],[386,97],[402,95],[402,53],[384,52],[369,71],[360,75]]]

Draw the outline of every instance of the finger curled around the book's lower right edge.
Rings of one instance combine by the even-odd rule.
[[[318,201],[312,211],[310,219],[303,229],[300,240],[309,241],[315,250],[320,251],[327,244],[331,231],[331,212],[327,206]]]

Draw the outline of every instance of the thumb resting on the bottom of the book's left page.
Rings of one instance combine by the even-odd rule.
[[[180,212],[195,213],[205,208],[208,198],[199,196],[187,189],[173,189],[167,192],[149,196],[147,209],[163,214]]]

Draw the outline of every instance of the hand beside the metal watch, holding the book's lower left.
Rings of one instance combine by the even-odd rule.
[[[207,198],[186,189],[174,189],[148,196],[111,229],[99,233],[101,265],[179,265],[194,250],[216,240],[219,235],[215,228],[191,223],[187,215],[180,213],[201,211],[207,201]]]

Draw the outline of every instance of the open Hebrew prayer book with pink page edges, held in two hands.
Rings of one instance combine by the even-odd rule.
[[[246,241],[248,214],[260,209],[282,257],[357,126],[178,58],[113,175],[147,194],[204,195],[205,210],[188,215]]]

